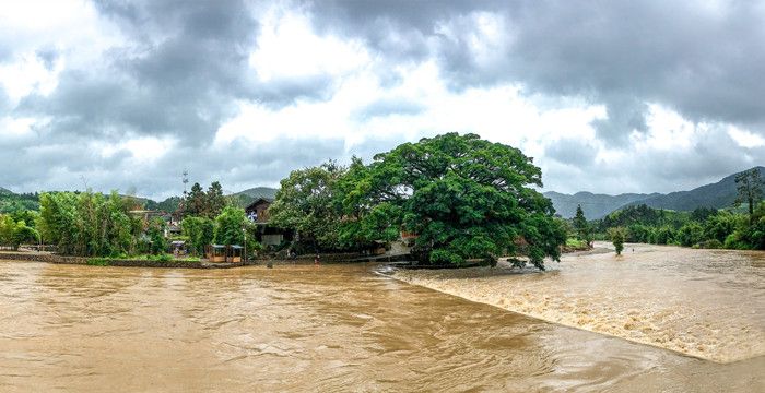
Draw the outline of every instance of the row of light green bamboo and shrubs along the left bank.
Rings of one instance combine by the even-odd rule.
[[[220,183],[213,183],[211,190],[220,190]],[[192,193],[188,198],[193,201],[197,195]],[[167,223],[158,217],[146,221],[141,215],[130,214],[132,199],[117,192],[109,195],[91,191],[43,193],[39,204],[37,228],[47,243],[57,246],[59,253],[125,258],[144,253],[158,254],[168,249]],[[250,238],[255,234],[244,210],[231,205],[221,206],[219,214],[213,216],[214,219],[209,218],[208,215],[214,211],[219,211],[219,207],[208,205],[195,212],[197,215],[189,214],[181,223],[183,233],[192,253],[197,255],[203,255],[204,246],[212,242],[242,245],[245,236],[243,228],[249,230]],[[22,228],[20,225],[24,222],[20,223],[14,225]],[[0,228],[4,227],[3,224]],[[16,231],[27,236],[23,239],[28,239],[33,234],[22,229]],[[2,239],[4,238],[3,236]],[[257,248],[255,241],[251,245],[251,249]]]

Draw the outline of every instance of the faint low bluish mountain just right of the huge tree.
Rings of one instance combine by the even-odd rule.
[[[576,215],[576,206],[581,205],[582,212],[587,219],[602,218],[607,214],[622,207],[631,202],[640,201],[651,195],[658,194],[637,194],[625,193],[620,195],[593,194],[582,191],[573,195],[564,194],[555,191],[548,191],[544,196],[550,198],[555,207],[555,212],[565,218],[572,218]]]

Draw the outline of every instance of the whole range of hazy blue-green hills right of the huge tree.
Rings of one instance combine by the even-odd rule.
[[[765,167],[760,169],[760,176],[765,181]],[[695,188],[690,191],[676,191],[668,194],[636,194],[620,195],[593,194],[577,192],[573,195],[548,191],[545,196],[553,202],[555,211],[563,217],[570,218],[576,214],[576,206],[581,205],[587,219],[599,219],[607,214],[624,206],[645,204],[649,207],[690,212],[696,207],[722,209],[733,204],[735,200],[735,176],[730,175],[722,180]]]

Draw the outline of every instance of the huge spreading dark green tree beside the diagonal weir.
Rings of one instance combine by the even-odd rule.
[[[560,258],[565,230],[532,188],[542,187],[541,170],[518,148],[448,133],[404,143],[357,170],[345,209],[374,221],[372,227],[417,234],[424,261],[493,264],[523,251],[544,269],[545,257]]]

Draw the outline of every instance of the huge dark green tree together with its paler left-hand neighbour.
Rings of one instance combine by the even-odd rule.
[[[552,203],[532,188],[542,186],[532,158],[475,134],[404,143],[369,164],[296,170],[281,186],[271,224],[316,249],[357,250],[408,231],[424,262],[493,264],[525,253],[544,269],[566,240]]]

